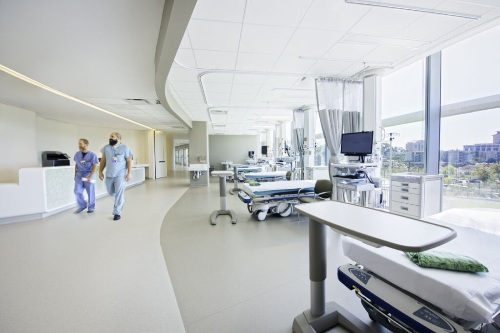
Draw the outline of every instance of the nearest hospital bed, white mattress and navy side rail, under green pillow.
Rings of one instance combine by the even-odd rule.
[[[472,257],[489,272],[424,268],[401,251],[344,238],[344,255],[357,264],[339,267],[338,280],[356,291],[370,319],[392,332],[500,332],[500,239],[457,226],[500,223],[500,212],[452,209],[424,220],[457,232],[433,250]]]

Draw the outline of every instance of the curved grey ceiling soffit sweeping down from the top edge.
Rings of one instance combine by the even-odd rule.
[[[156,96],[165,110],[187,128],[192,128],[192,120],[171,95],[166,86],[166,78],[195,4],[196,0],[165,0],[154,54],[154,90]]]

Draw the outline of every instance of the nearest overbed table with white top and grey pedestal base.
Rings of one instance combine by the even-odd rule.
[[[359,205],[323,201],[297,205],[309,218],[309,279],[311,307],[293,320],[294,333],[323,332],[340,325],[354,333],[374,332],[335,302],[325,302],[326,227],[371,246],[421,252],[449,242],[456,232],[430,222]]]

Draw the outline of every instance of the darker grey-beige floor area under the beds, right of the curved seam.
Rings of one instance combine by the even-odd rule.
[[[238,222],[220,216],[212,226],[210,213],[218,207],[218,180],[211,177],[208,188],[190,188],[161,227],[186,332],[291,332],[293,318],[309,308],[307,219],[297,221],[293,213],[259,222],[228,194],[227,207]],[[336,280],[336,268],[350,260],[342,255],[340,236],[328,230],[326,300],[370,323],[353,292]]]

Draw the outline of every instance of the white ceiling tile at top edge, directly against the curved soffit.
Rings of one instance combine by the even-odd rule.
[[[196,1],[191,18],[218,21],[242,22],[244,0],[202,0]]]

